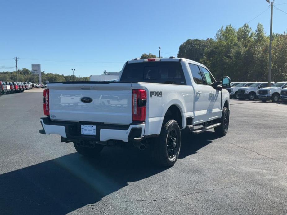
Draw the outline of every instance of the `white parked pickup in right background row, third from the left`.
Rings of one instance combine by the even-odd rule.
[[[271,87],[265,87],[258,90],[258,98],[266,102],[268,100],[272,100],[272,102],[278,102],[280,99],[280,93],[282,89],[287,87],[287,82],[277,82],[273,84]]]

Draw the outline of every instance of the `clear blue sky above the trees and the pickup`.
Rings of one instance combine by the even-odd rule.
[[[287,0],[274,5],[287,12]],[[0,66],[41,64],[51,73],[79,77],[118,72],[142,53],[176,56],[187,39],[214,38],[223,25],[236,28],[266,10],[265,0],[0,2]],[[269,33],[270,10],[249,22]],[[273,32],[287,31],[287,14],[274,8]],[[15,69],[0,69],[0,71]]]

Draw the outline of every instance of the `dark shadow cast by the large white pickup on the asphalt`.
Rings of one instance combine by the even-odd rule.
[[[216,138],[213,132],[183,135],[180,158]],[[1,214],[66,214],[167,169],[157,168],[136,148],[106,148],[99,159],[78,153],[0,175]],[[96,205],[93,206],[96,208]],[[95,211],[98,213],[98,211]]]

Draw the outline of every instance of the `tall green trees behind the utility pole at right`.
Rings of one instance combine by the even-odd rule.
[[[207,66],[216,79],[267,81],[269,36],[259,23],[255,31],[248,24],[236,29],[222,26],[214,39],[188,39],[179,46],[177,57]],[[287,34],[272,35],[271,81],[287,81]]]

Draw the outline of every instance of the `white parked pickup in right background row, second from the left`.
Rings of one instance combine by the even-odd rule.
[[[271,82],[271,84],[274,84],[274,82]],[[268,82],[256,82],[251,84],[249,87],[239,88],[237,93],[238,98],[254,100],[258,98],[258,90],[267,86]]]

